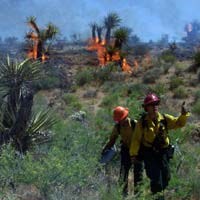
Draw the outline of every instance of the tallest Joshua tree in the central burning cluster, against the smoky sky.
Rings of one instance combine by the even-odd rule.
[[[117,13],[109,13],[107,17],[104,18],[104,26],[106,28],[106,44],[109,44],[112,29],[119,26],[121,19]]]

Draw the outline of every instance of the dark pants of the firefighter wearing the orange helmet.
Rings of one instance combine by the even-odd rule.
[[[120,180],[124,184],[123,193],[128,193],[128,175],[130,168],[132,166],[131,158],[129,154],[129,148],[125,145],[121,146],[121,168],[120,168]],[[142,181],[143,178],[143,160],[134,164],[134,188],[138,186],[138,184]]]

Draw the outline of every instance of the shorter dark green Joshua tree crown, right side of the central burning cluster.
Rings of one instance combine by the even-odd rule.
[[[120,27],[114,32],[115,48],[122,49],[122,45],[128,41],[131,30],[127,27]]]

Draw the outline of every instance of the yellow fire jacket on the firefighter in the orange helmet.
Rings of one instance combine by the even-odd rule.
[[[112,130],[112,134],[110,136],[110,140],[108,144],[106,145],[106,147],[111,147],[115,143],[116,139],[119,136],[119,132],[117,129],[118,129],[117,125],[114,126]],[[128,118],[128,124],[124,126],[123,125],[120,126],[120,136],[121,136],[122,143],[126,145],[128,148],[130,148],[132,135],[133,135],[133,128],[131,127],[131,119]]]

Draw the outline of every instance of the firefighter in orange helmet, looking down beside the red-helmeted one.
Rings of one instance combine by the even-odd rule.
[[[134,132],[136,120],[128,117],[129,110],[122,106],[117,106],[113,111],[113,120],[116,125],[113,127],[112,134],[109,142],[105,145],[102,154],[110,149],[116,142],[116,139],[120,135],[121,138],[121,167],[120,167],[120,182],[123,184],[123,195],[128,194],[128,175],[132,166],[131,158],[129,155],[129,148],[131,144],[131,138]],[[138,188],[138,184],[142,180],[143,174],[143,162],[140,159],[134,165],[134,188]],[[136,190],[135,190],[136,191]]]

